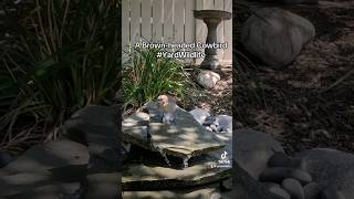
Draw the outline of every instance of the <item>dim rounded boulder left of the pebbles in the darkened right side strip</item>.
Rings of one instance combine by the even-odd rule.
[[[284,151],[270,135],[249,128],[235,130],[233,140],[235,160],[254,179],[259,179],[274,153]]]

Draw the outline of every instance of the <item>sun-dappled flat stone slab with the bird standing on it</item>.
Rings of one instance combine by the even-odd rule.
[[[156,109],[148,111],[150,115],[138,113],[124,119],[122,128],[125,142],[184,159],[225,147],[183,108],[177,108],[174,124],[170,125],[152,117],[152,113],[157,113]]]

